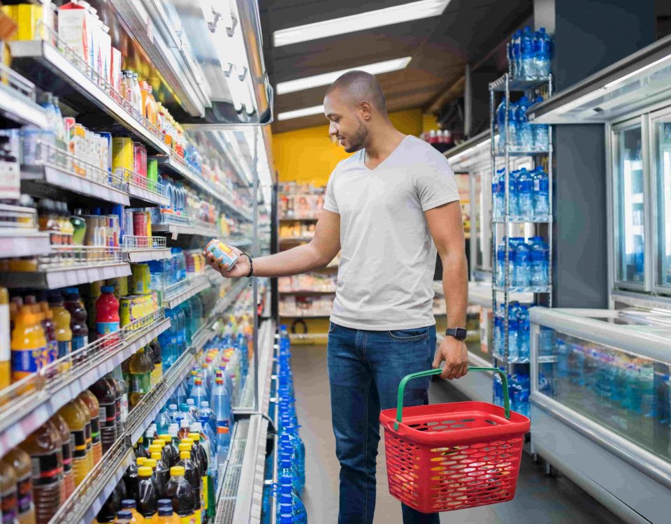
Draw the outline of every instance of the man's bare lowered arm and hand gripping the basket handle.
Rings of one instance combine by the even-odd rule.
[[[468,305],[468,265],[463,240],[463,219],[458,201],[440,205],[425,213],[440,261],[442,262],[442,289],[447,305],[447,326],[466,326]],[[458,379],[468,372],[466,344],[454,337],[445,337],[435,354],[433,367],[445,361],[441,377]]]

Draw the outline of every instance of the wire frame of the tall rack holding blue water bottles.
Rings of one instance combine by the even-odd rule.
[[[552,94],[552,75],[549,75],[548,78],[537,78],[532,80],[513,78],[509,73],[505,73],[503,76],[497,80],[490,82],[489,84],[489,123],[490,123],[490,136],[491,140],[489,143],[490,154],[491,154],[491,176],[492,180],[496,175],[496,159],[503,159],[503,167],[505,168],[505,199],[504,199],[504,208],[503,208],[503,219],[495,219],[493,210],[490,214],[490,225],[491,225],[491,268],[493,279],[496,279],[496,250],[498,248],[498,243],[503,234],[505,238],[505,275],[504,275],[504,285],[491,286],[492,294],[492,308],[493,316],[500,315],[500,305],[503,305],[503,326],[504,326],[504,336],[503,336],[503,354],[496,354],[497,348],[494,348],[493,357],[494,365],[498,367],[499,365],[505,365],[509,372],[513,371],[514,365],[518,363],[512,363],[509,361],[509,310],[508,305],[511,302],[511,293],[533,293],[533,298],[537,302],[541,295],[547,296],[545,302],[547,305],[551,306],[552,304],[552,226],[551,216],[544,221],[528,221],[522,220],[518,217],[512,217],[510,215],[510,172],[513,169],[512,159],[515,157],[525,156],[532,157],[536,165],[542,161],[542,158],[547,158],[547,175],[549,183],[549,205],[550,209],[552,206],[552,130],[548,130],[548,140],[549,146],[547,150],[522,150],[519,146],[511,146],[510,138],[510,127],[508,126],[508,117],[510,108],[510,94],[512,92],[522,92],[524,94],[531,94],[537,89],[546,88],[547,95],[551,96]],[[496,129],[496,93],[500,93],[503,96],[501,97],[505,101],[505,145],[503,148],[499,147],[499,144],[496,142],[496,136],[502,130]],[[500,136],[503,136],[501,133]],[[493,201],[493,195],[492,195]],[[513,224],[531,224],[536,234],[546,236],[548,240],[549,247],[549,261],[548,261],[548,280],[549,286],[531,286],[531,287],[517,287],[512,286],[510,282],[510,271],[508,270],[510,265],[510,244],[509,240],[512,235],[512,225]],[[500,300],[503,296],[503,300]],[[520,362],[520,365],[528,365],[528,361]]]

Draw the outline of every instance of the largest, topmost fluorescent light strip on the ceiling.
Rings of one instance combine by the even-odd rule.
[[[282,45],[307,42],[339,34],[354,33],[354,31],[366,31],[366,29],[373,29],[373,27],[400,24],[402,22],[410,22],[411,20],[438,16],[445,10],[449,1],[420,0],[403,3],[401,6],[359,13],[358,15],[343,16],[324,20],[323,22],[280,29],[280,31],[273,33],[273,45],[279,48]]]

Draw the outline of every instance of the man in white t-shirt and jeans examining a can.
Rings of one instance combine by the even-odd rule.
[[[468,369],[463,343],[468,277],[459,194],[447,160],[397,131],[373,75],[351,71],[326,91],[329,133],[351,157],[338,163],[307,245],[252,259],[225,277],[280,277],[323,268],[342,248],[329,327],[328,366],[340,524],[371,524],[380,409],[396,406],[398,384],[439,367],[444,379]],[[436,351],[432,279],[436,249],[451,330]],[[208,263],[218,267],[212,255]],[[456,330],[456,328],[461,328]],[[428,379],[408,383],[405,406],[428,402]],[[317,516],[319,520],[319,516]],[[403,523],[438,523],[403,506]]]

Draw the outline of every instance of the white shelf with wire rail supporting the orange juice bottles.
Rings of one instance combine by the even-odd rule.
[[[170,320],[159,310],[79,349],[69,361],[57,361],[4,389],[0,396],[0,457],[23,442],[69,400],[169,327]],[[114,345],[117,337],[121,339]],[[75,360],[78,356],[80,361]],[[64,365],[69,369],[63,370]],[[22,394],[27,388],[34,392]]]

